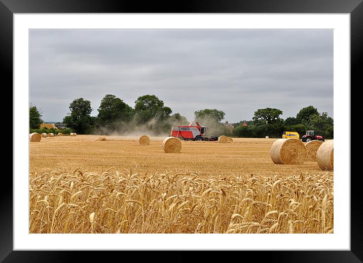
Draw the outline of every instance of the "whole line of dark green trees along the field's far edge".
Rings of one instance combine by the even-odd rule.
[[[115,132],[137,133],[147,130],[154,134],[170,133],[171,126],[188,125],[186,117],[179,113],[171,114],[171,108],[164,105],[156,95],[143,95],[135,100],[134,108],[121,98],[106,94],[97,109],[97,116],[91,116],[91,102],[76,98],[69,105],[70,113],[63,118],[63,124],[78,134],[113,134]],[[250,138],[280,138],[283,131],[297,131],[301,136],[305,130],[314,129],[327,139],[333,138],[333,118],[327,113],[319,113],[313,106],[299,111],[296,117],[280,118],[279,109],[265,108],[255,111],[252,120],[233,123],[231,132],[221,123],[225,113],[217,109],[202,109],[194,112],[194,121],[208,126],[208,136],[231,135]],[[35,106],[29,107],[29,124],[37,129],[43,122],[42,115]],[[247,126],[243,125],[246,123]]]

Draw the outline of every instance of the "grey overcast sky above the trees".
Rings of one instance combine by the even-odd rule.
[[[238,122],[309,105],[334,117],[333,30],[33,29],[29,94],[44,121],[62,121],[79,97],[96,116],[106,94],[131,107],[155,94],[190,121],[205,108]]]

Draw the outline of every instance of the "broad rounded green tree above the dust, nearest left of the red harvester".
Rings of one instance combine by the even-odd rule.
[[[155,95],[139,96],[135,101],[135,117],[140,123],[146,123],[152,119],[166,120],[171,112],[171,109],[164,106],[164,102]]]

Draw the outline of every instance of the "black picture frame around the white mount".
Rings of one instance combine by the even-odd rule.
[[[198,2],[146,2],[113,0],[0,0],[0,69],[4,89],[13,86],[13,14],[14,13],[349,13],[351,38],[351,91],[363,87],[359,65],[363,54],[362,0],[200,0]],[[5,80],[5,81],[4,81]],[[10,90],[10,89],[9,89]],[[352,117],[358,109],[351,104]],[[354,118],[351,118],[354,119]],[[9,123],[9,122],[8,122]],[[350,136],[349,137],[350,144]],[[351,158],[357,158],[351,154]],[[355,176],[354,176],[355,175]],[[346,175],[351,176],[351,175]],[[359,174],[351,176],[351,250],[350,251],[243,251],[258,253],[260,260],[279,262],[361,262],[363,260],[363,212],[359,193]],[[13,251],[13,185],[3,174],[0,191],[0,261],[60,262],[74,258],[70,251]],[[339,187],[339,186],[338,186]],[[339,215],[337,215],[339,216]],[[183,257],[175,257],[176,260]],[[83,260],[94,258],[93,252],[83,253]],[[213,253],[209,253],[212,257]],[[234,255],[231,254],[231,255]],[[251,256],[256,258],[256,255]],[[164,254],[167,259],[167,255]],[[209,260],[208,256],[204,260]],[[76,258],[74,258],[76,259]],[[112,260],[111,258],[108,260]],[[196,258],[194,258],[196,260]],[[194,261],[193,260],[193,261]],[[242,260],[242,258],[241,258]],[[92,260],[93,261],[93,260]],[[175,261],[175,260],[173,260]]]

